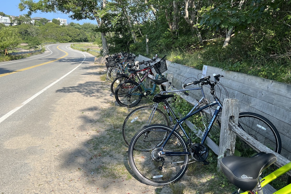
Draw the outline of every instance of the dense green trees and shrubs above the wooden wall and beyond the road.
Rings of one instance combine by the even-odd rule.
[[[98,42],[106,32],[111,53],[130,51],[171,55],[173,61],[201,69],[212,65],[267,79],[291,83],[291,11],[288,0],[201,1],[189,6],[186,22],[184,1],[47,1],[21,0],[20,10],[70,14],[73,19],[96,19],[97,26],[70,24],[55,32],[42,28],[39,38],[59,42]],[[191,7],[191,8],[190,8]],[[167,10],[167,17],[165,14]],[[128,16],[128,17],[127,17]],[[102,18],[102,20],[101,20]],[[176,22],[177,29],[172,30]],[[130,25],[129,25],[130,23]],[[171,27],[169,26],[171,25]],[[40,24],[42,25],[42,24]],[[195,29],[194,27],[197,27]],[[70,33],[68,33],[68,28]],[[72,30],[74,29],[74,30]],[[229,45],[223,47],[226,32],[232,29]],[[22,38],[30,36],[28,29]],[[36,32],[36,35],[39,32]],[[136,40],[133,40],[133,33]],[[198,41],[201,34],[203,43]],[[98,37],[98,39],[97,39]],[[105,48],[103,42],[103,48]],[[106,48],[105,48],[106,49]]]

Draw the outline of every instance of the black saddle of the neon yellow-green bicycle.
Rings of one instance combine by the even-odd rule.
[[[263,170],[277,161],[274,154],[263,154],[252,158],[226,156],[220,167],[228,180],[244,191],[252,191],[258,184]]]

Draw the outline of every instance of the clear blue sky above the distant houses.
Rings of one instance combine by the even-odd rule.
[[[38,1],[38,0],[34,0]],[[19,11],[18,9],[18,4],[20,3],[20,0],[4,0],[1,1],[0,4],[0,11],[4,12],[6,15],[14,15],[14,16],[19,16],[22,14],[27,14],[28,10],[25,11]],[[72,20],[69,18],[69,15],[63,14],[63,13],[33,13],[31,17],[45,17],[46,19],[54,19],[54,18],[61,18],[61,19],[67,19],[67,23],[69,24],[70,22],[74,23],[79,23],[83,24],[85,22],[92,23],[92,24],[97,24],[96,20],[90,20],[90,19],[83,19],[83,20]]]

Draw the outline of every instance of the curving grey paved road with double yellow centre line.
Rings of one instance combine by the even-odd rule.
[[[32,169],[27,158],[42,151],[18,142],[48,135],[49,115],[65,95],[56,91],[74,86],[93,61],[94,56],[70,44],[53,44],[42,54],[0,63],[0,193],[15,193],[25,185],[23,177]]]

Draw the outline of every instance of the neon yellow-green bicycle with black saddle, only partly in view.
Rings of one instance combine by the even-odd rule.
[[[221,159],[220,167],[227,179],[239,188],[239,190],[233,192],[233,194],[239,193],[240,189],[246,191],[242,194],[263,194],[262,188],[264,188],[265,185],[291,170],[290,162],[260,180],[259,176],[261,173],[276,162],[276,160],[277,158],[274,154],[266,154],[265,152],[260,152],[251,158],[226,156]],[[287,186],[281,188],[275,193],[291,193],[290,179],[288,179],[287,184]]]

